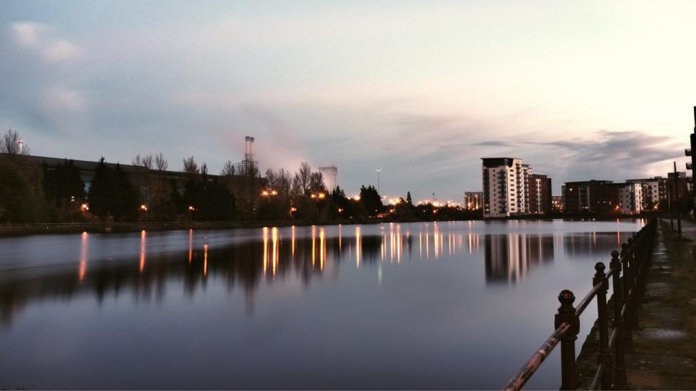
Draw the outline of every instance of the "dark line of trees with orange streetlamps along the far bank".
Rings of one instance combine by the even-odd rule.
[[[162,153],[135,155],[128,170],[101,157],[86,187],[72,160],[36,165],[18,142],[13,130],[0,137],[0,223],[471,218],[458,207],[415,206],[410,192],[385,206],[372,185],[347,197],[340,187],[327,189],[307,162],[296,172],[269,169],[262,177],[253,162],[228,160],[219,175],[210,175],[205,162],[190,156],[174,174]]]

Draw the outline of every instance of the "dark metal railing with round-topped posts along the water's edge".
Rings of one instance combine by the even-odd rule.
[[[625,352],[633,350],[633,330],[638,328],[638,310],[643,296],[643,277],[648,270],[657,219],[650,219],[640,231],[621,244],[621,251],[611,253],[609,271],[602,262],[595,264],[592,289],[573,307],[573,292],[564,289],[558,295],[561,307],[554,318],[556,330],[506,384],[504,390],[520,390],[553,348],[561,343],[561,390],[578,388],[575,368],[575,340],[580,332],[580,315],[597,298],[599,352],[597,369],[590,390],[625,390]],[[623,271],[623,275],[622,275]],[[607,293],[609,279],[613,291],[613,318],[610,328]],[[610,301],[611,303],[611,301]],[[611,333],[610,333],[611,331]]]

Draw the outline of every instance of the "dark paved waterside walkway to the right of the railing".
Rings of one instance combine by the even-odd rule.
[[[679,239],[662,221],[657,234],[640,328],[626,354],[628,383],[635,390],[695,390],[696,224],[682,221]]]

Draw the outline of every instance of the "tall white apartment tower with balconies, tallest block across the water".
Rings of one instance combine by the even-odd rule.
[[[482,157],[483,217],[529,212],[529,165],[514,157]]]

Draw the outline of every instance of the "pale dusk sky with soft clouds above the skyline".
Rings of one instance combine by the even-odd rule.
[[[34,155],[337,165],[461,200],[481,157],[563,182],[684,170],[693,1],[0,1],[0,130]]]

